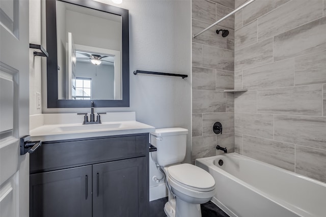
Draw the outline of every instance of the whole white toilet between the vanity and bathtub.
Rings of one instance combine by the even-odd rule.
[[[164,207],[168,217],[201,217],[200,204],[214,195],[215,181],[208,172],[192,164],[181,164],[187,134],[183,128],[162,128],[151,133],[151,144],[157,148],[151,152],[152,159],[168,182],[169,201]]]

